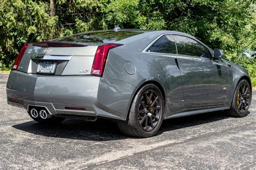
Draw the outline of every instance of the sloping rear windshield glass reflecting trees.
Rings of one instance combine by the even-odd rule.
[[[57,42],[76,42],[85,45],[100,45],[104,43],[114,43],[116,41],[136,36],[143,32],[132,32],[132,31],[95,31],[95,32],[84,32],[73,34],[67,37],[61,37],[53,39],[52,41]]]

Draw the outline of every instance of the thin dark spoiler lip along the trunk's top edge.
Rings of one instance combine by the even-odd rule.
[[[33,46],[38,47],[86,47],[87,45],[74,43],[74,42],[57,42],[57,41],[42,41],[35,42]]]

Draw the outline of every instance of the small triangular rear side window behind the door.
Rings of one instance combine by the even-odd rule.
[[[172,35],[162,36],[156,42],[154,42],[154,44],[147,51],[155,53],[177,54],[175,41]]]

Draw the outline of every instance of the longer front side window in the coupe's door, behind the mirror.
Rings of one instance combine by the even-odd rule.
[[[210,58],[211,54],[206,47],[199,42],[183,36],[174,36],[178,54]]]

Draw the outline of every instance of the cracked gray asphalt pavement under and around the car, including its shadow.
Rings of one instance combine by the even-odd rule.
[[[224,111],[165,120],[151,138],[122,134],[116,123],[66,119],[32,121],[6,102],[0,74],[0,169],[3,168],[239,168],[256,169],[256,93],[250,114]]]

